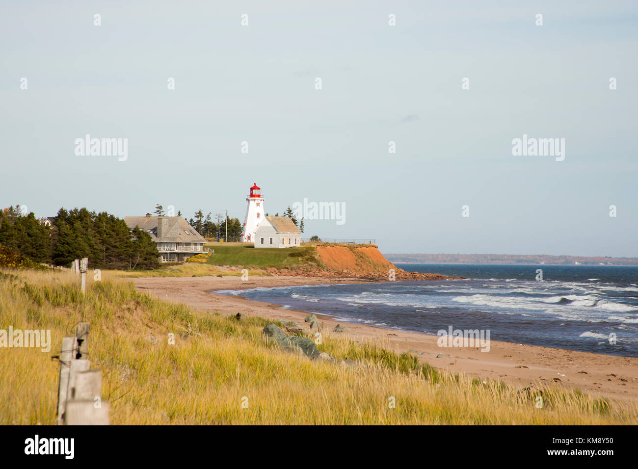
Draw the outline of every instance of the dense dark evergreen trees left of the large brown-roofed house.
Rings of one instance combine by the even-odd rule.
[[[52,226],[18,205],[0,212],[0,244],[47,264],[69,267],[74,259],[89,258],[98,269],[156,269],[159,253],[151,235],[107,212],[62,208]]]

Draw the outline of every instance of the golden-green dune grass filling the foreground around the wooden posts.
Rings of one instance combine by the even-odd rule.
[[[0,318],[3,329],[50,329],[53,343],[48,354],[0,348],[0,424],[54,423],[50,356],[80,321],[91,324],[89,358],[112,424],[631,424],[638,415],[554,385],[529,394],[436,371],[329,332],[319,349],[357,366],[311,361],[264,341],[267,320],[163,302],[124,279],[89,279],[83,296],[70,272],[0,271]]]

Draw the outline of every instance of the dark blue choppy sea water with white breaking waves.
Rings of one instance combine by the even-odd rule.
[[[436,334],[489,329],[497,341],[638,357],[638,267],[396,264],[467,280],[394,281],[222,290],[336,316],[343,322]],[[543,281],[537,281],[542,269]],[[616,334],[616,343],[610,343]]]

